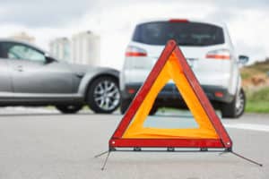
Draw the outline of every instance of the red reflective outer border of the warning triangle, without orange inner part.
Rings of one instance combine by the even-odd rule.
[[[128,125],[134,118],[137,110],[143,103],[143,99],[146,98],[149,91],[152,89],[154,81],[158,78],[162,68],[169,60],[170,55],[175,55],[179,64],[182,66],[183,73],[187,78],[187,82],[195,92],[195,96],[199,99],[201,106],[204,108],[206,115],[208,116],[211,124],[217,135],[218,139],[126,139],[123,138],[124,132],[128,128]],[[150,72],[143,86],[137,92],[133,102],[127,109],[126,114],[123,116],[121,122],[117,126],[117,130],[109,140],[109,149],[113,148],[133,148],[133,147],[152,147],[152,148],[225,148],[231,149],[232,141],[229,134],[221,124],[221,120],[216,115],[210,101],[204,94],[199,82],[195,78],[194,72],[187,64],[187,60],[182,54],[181,50],[177,46],[176,41],[169,40],[166,47],[161,53],[161,56],[157,63],[153,66],[152,72]]]

